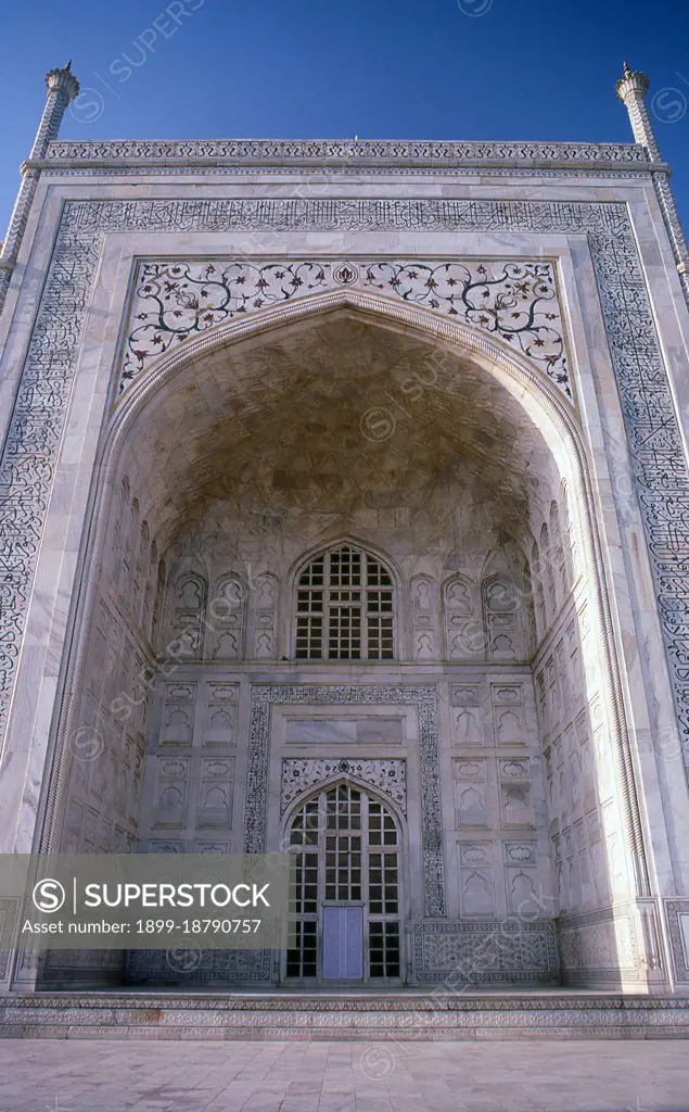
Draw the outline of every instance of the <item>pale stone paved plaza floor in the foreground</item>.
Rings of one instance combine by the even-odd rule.
[[[4,1040],[1,1112],[689,1112],[689,1042]]]

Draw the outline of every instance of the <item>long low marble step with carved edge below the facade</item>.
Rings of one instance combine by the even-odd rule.
[[[680,1039],[689,997],[533,992],[113,992],[0,996],[0,1037]]]

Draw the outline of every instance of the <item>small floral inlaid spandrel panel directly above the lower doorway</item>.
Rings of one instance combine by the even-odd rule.
[[[280,814],[291,807],[294,800],[309,788],[333,780],[336,776],[353,777],[369,784],[407,814],[407,761],[405,758],[357,757],[283,757],[280,778]]]

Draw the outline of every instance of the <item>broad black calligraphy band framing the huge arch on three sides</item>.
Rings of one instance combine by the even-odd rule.
[[[58,145],[63,149],[70,145]],[[72,145],[73,146],[73,145]],[[146,146],[146,145],[144,145]],[[163,145],[164,146],[164,145]],[[77,145],[79,148],[79,145]],[[623,148],[616,148],[621,151]],[[94,148],[84,147],[89,157]],[[639,149],[628,148],[639,158]],[[621,157],[621,156],[620,156]],[[0,726],[14,682],[31,582],[102,237],[109,232],[297,229],[587,234],[653,568],[689,768],[689,473],[626,205],[493,200],[68,201],[0,465]]]

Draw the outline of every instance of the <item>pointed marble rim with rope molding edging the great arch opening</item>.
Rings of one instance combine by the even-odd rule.
[[[67,811],[71,783],[67,742],[80,728],[79,699],[72,698],[68,693],[78,693],[83,683],[89,652],[88,635],[98,594],[98,579],[93,569],[101,564],[113,496],[126,474],[128,453],[131,453],[136,443],[141,446],[139,458],[144,459],[149,450],[146,430],[152,425],[152,415],[162,411],[166,398],[172,398],[183,389],[193,390],[194,397],[202,397],[211,380],[211,370],[216,374],[226,357],[234,359],[233,366],[237,366],[252,353],[264,350],[286,336],[306,336],[314,328],[328,328],[332,322],[337,322],[338,327],[346,322],[363,331],[372,330],[380,337],[391,338],[391,342],[415,345],[419,353],[441,359],[447,357],[452,367],[457,368],[458,376],[461,376],[462,368],[470,369],[477,379],[495,384],[496,390],[502,391],[501,396],[510,399],[509,405],[513,407],[513,411],[519,409],[529,426],[549,446],[560,478],[569,488],[570,513],[576,518],[575,529],[590,583],[602,694],[622,798],[626,853],[636,868],[636,891],[638,894],[646,893],[648,868],[622,701],[620,663],[605,578],[603,548],[595,513],[591,468],[577,414],[540,371],[526,359],[506,350],[501,342],[460,324],[438,320],[421,309],[392,304],[382,297],[356,290],[338,290],[283,308],[266,310],[256,318],[232,321],[193,340],[187,340],[174,351],[161,357],[144,378],[134,383],[108,417],[101,435],[97,481],[91,492],[89,523],[82,543],[80,586],[73,616],[72,648],[64,671],[61,714],[54,724],[54,759],[46,802],[42,847],[54,850],[60,844],[61,821]],[[217,375],[213,380],[217,381]],[[241,401],[242,388],[247,384],[237,381],[236,385],[236,397]],[[249,383],[248,386],[247,411],[260,420],[261,408],[251,394],[253,384]],[[193,419],[197,420],[198,417],[194,416]],[[198,439],[202,439],[202,436],[201,430]],[[477,450],[477,458],[480,459],[480,446]],[[164,528],[161,536],[168,528],[164,515],[169,514],[169,520],[173,520],[180,504],[171,500],[163,507]],[[146,504],[142,502],[142,516],[144,514]],[[169,529],[168,535],[171,535]],[[304,545],[304,554],[308,549],[309,546]],[[385,546],[381,545],[380,550],[385,552]],[[160,552],[162,555],[162,547]],[[296,566],[293,559],[290,566]],[[276,600],[273,620],[279,618],[279,602]]]

